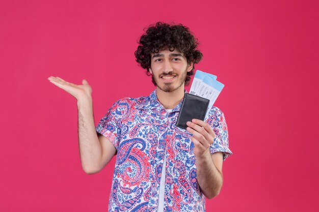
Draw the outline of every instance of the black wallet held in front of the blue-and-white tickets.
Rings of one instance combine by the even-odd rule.
[[[192,122],[193,118],[204,120],[208,104],[208,99],[185,93],[176,126],[186,130],[186,123]]]

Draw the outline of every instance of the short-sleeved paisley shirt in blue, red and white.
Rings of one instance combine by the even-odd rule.
[[[181,103],[168,115],[154,90],[115,102],[100,120],[96,131],[117,149],[109,211],[156,211],[164,157],[164,211],[205,211],[192,134],[175,126]],[[223,112],[212,107],[205,122],[216,134],[210,153],[223,152],[225,160],[232,153]]]

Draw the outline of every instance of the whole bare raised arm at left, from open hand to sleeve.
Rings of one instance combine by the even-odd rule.
[[[66,82],[60,77],[49,77],[48,80],[77,100],[78,142],[82,167],[88,174],[99,172],[116,154],[116,148],[108,138],[96,133],[91,86],[85,79],[82,80],[82,85]]]

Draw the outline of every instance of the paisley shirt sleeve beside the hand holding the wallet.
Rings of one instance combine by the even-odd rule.
[[[209,148],[209,152],[210,154],[222,152],[223,161],[225,161],[228,156],[232,155],[232,152],[228,148],[228,128],[224,113],[219,108],[215,107],[214,112],[208,118],[208,124],[210,124],[210,127],[216,135],[214,143],[211,144]]]

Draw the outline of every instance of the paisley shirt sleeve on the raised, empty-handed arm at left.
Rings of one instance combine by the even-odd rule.
[[[113,104],[95,128],[96,132],[111,141],[116,150],[118,150],[122,126],[122,113],[119,107],[119,101]]]

